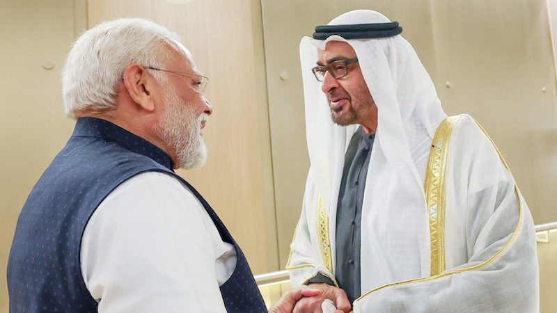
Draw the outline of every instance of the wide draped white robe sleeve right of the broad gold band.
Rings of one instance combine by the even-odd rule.
[[[536,312],[533,220],[510,172],[467,117],[450,138],[446,178],[446,270],[395,282],[354,303],[354,312]]]

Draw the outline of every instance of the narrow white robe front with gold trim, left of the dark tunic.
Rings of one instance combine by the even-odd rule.
[[[306,182],[306,192],[301,208],[301,216],[296,227],[294,239],[290,245],[290,257],[286,269],[290,272],[292,286],[296,287],[314,278],[321,273],[336,283],[333,273],[324,266],[322,252],[317,238],[316,209],[319,198],[317,185],[313,181],[310,168]]]

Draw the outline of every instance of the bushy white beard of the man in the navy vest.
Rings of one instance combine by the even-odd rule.
[[[207,121],[207,114],[196,116],[191,103],[180,99],[171,88],[165,91],[167,109],[157,125],[163,142],[176,153],[180,168],[190,170],[203,166],[207,147],[201,136],[201,122]]]

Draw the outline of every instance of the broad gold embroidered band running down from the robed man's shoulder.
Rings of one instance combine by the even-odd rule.
[[[430,276],[445,271],[445,172],[450,133],[459,118],[460,115],[450,116],[437,128],[425,173],[425,199],[430,218]]]

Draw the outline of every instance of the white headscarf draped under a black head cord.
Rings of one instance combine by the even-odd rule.
[[[390,22],[371,10],[354,10],[328,25]],[[377,132],[363,198],[361,230],[362,289],[430,275],[429,221],[423,183],[432,138],[446,118],[433,82],[416,52],[401,35],[378,39],[327,40],[304,37],[300,43],[306,134],[311,168],[329,212],[329,238],[335,247],[336,205],[347,143],[357,125],[334,124],[327,97],[311,68],[317,49],[329,41],[347,42],[377,105]],[[350,73],[349,73],[350,74]],[[332,252],[335,252],[332,248]],[[416,264],[416,259],[421,264]],[[375,266],[382,264],[382,266]],[[385,264],[389,270],[385,271]],[[373,282],[370,282],[373,278]]]

